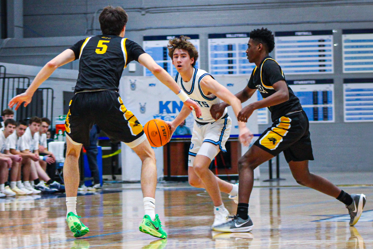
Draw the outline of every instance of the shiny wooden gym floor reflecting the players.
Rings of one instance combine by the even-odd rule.
[[[63,194],[41,199],[7,197],[0,199],[0,248],[373,248],[373,186],[342,187],[367,196],[355,227],[348,225],[347,209],[339,201],[305,187],[285,186],[254,187],[251,233],[216,233],[211,231],[212,204],[204,190],[187,183],[158,184],[156,212],[168,232],[163,240],[138,230],[144,212],[140,184],[111,184],[106,190],[81,193],[77,211],[90,233],[79,239],[66,225]],[[236,205],[222,195],[225,206],[235,213]]]

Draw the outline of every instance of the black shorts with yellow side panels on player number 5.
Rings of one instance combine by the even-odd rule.
[[[131,148],[146,139],[142,125],[123,105],[116,91],[89,91],[74,95],[65,121],[68,136],[75,143],[89,146],[90,130],[94,124],[112,141],[122,141]]]

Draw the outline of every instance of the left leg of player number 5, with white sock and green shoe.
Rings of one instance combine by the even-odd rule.
[[[76,213],[76,195],[79,187],[79,156],[82,144],[75,143],[66,135],[66,158],[63,164],[63,180],[65,181],[66,190],[66,222],[74,237],[81,237],[90,230],[80,220]]]

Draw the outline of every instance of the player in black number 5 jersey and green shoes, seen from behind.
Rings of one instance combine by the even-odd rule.
[[[16,105],[16,109],[23,102],[25,106],[28,105],[38,86],[56,68],[80,59],[75,96],[70,101],[70,109],[65,122],[67,151],[63,167],[66,188],[66,221],[74,237],[81,237],[89,232],[88,227],[79,220],[76,214],[76,194],[79,186],[78,158],[82,144],[89,145],[89,133],[93,124],[98,124],[113,141],[126,143],[140,157],[145,215],[139,229],[155,237],[167,237],[154,211],[157,184],[154,151],[142,130],[142,125],[123,105],[117,93],[123,69],[129,62],[133,60],[140,62],[177,94],[185,106],[194,108],[198,116],[201,114],[199,106],[181,91],[172,77],[157,65],[140,45],[123,38],[127,20],[128,15],[121,7],[105,7],[99,16],[103,35],[78,41],[60,53],[41,69],[25,93],[14,97],[9,103],[10,107]]]

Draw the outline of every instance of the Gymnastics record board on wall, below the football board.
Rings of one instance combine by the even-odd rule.
[[[334,122],[334,81],[287,80],[310,123]]]

